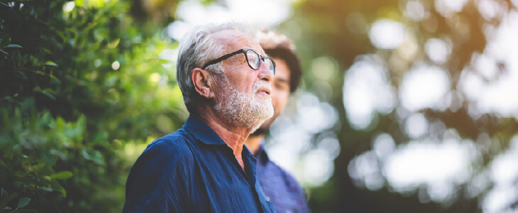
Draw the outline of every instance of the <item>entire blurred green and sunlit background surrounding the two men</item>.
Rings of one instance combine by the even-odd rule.
[[[1,0],[0,186],[39,212],[120,212],[136,157],[188,116],[177,40],[232,18],[297,45],[302,91],[267,148],[313,212],[516,211],[517,5]]]

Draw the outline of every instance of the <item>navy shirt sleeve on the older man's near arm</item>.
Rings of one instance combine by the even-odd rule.
[[[140,155],[128,175],[123,212],[189,212],[194,157],[182,141],[159,139]]]

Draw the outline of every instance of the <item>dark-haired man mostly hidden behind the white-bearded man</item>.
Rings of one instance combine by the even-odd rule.
[[[302,187],[292,175],[270,161],[263,146],[265,133],[270,129],[270,124],[279,116],[290,94],[299,86],[302,77],[300,62],[294,52],[294,45],[285,35],[263,31],[258,33],[257,38],[265,53],[275,60],[277,65],[271,95],[275,114],[250,135],[245,144],[258,159],[258,180],[277,212],[309,212]]]

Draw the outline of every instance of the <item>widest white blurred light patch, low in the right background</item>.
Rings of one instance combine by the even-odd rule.
[[[387,180],[395,189],[434,182],[463,182],[469,177],[466,168],[473,148],[450,141],[410,141],[398,146],[385,162]]]

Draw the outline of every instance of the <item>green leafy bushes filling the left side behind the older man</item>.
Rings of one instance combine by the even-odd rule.
[[[186,118],[172,55],[158,57],[176,44],[129,9],[123,0],[0,4],[0,186],[31,197],[27,207],[120,212],[128,149],[140,153],[135,144]]]

